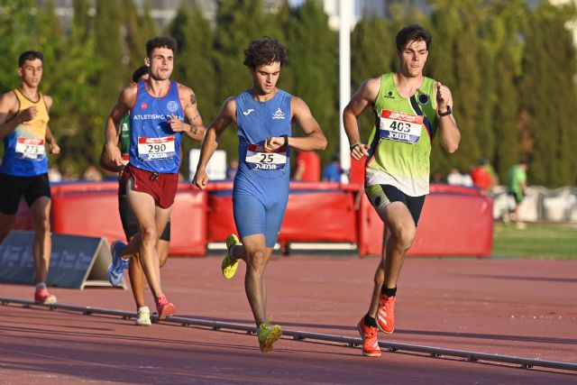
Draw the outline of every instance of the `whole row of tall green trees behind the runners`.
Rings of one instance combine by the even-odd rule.
[[[218,0],[215,23],[197,7],[183,5],[167,29],[180,48],[173,78],[195,91],[208,125],[226,97],[252,85],[243,50],[263,35],[278,39],[289,51],[279,87],[311,108],[329,141],[329,149],[319,154],[326,162],[339,143],[337,32],[328,27],[320,1],[292,8],[284,0],[273,13],[264,11],[263,3]],[[96,161],[105,119],[142,63],[145,42],[159,29],[151,18],[150,0],[75,0],[66,30],[54,15],[55,4],[0,0],[0,91],[18,86],[16,59],[23,50],[44,52],[41,92],[54,99],[50,127],[62,147],[57,161],[79,172]],[[366,78],[396,70],[394,38],[403,26],[421,23],[433,33],[426,76],[451,88],[462,132],[453,155],[435,140],[434,172],[446,174],[455,166],[468,170],[483,155],[504,180],[508,168],[526,154],[533,159],[531,184],[577,182],[577,151],[572,149],[577,67],[572,34],[566,29],[575,18],[574,6],[430,0],[432,13],[425,15],[410,6],[412,1],[387,4],[387,17],[366,14],[353,30],[352,85],[357,89]],[[96,14],[90,14],[95,5]],[[361,119],[363,138],[373,121],[369,108]],[[237,151],[234,133],[232,127],[221,142],[231,158]],[[185,141],[185,150],[197,145]]]

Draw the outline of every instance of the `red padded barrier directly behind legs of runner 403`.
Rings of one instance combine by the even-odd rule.
[[[417,237],[408,255],[490,256],[492,201],[472,194],[433,193],[426,197]],[[359,254],[380,255],[384,225],[363,194],[359,210]]]

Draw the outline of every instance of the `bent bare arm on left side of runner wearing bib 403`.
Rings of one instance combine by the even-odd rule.
[[[362,143],[357,118],[369,107],[375,104],[380,89],[380,77],[365,80],[359,90],[354,93],[351,101],[343,110],[344,133],[349,138],[349,145],[353,146],[351,156],[360,160],[369,155],[369,146]]]

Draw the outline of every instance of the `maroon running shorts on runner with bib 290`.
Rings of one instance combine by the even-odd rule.
[[[179,187],[179,174],[160,174],[137,169],[130,163],[124,167],[120,177],[118,194],[126,194],[126,181],[134,179],[134,191],[143,192],[154,198],[154,203],[160,208],[169,208],[174,203]]]

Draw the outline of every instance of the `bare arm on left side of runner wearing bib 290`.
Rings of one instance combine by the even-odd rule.
[[[105,125],[105,151],[104,161],[116,167],[122,167],[123,157],[118,148],[120,136],[119,122],[129,111],[136,99],[136,87],[124,88],[118,96],[118,102],[114,105]]]

